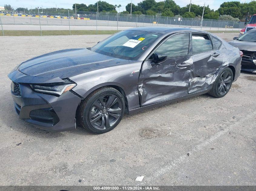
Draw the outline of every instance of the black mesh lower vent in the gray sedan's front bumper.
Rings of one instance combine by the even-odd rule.
[[[34,119],[36,121],[40,121],[43,123],[52,123],[53,125],[55,125],[56,123],[59,122],[59,118],[52,108],[32,110],[29,113],[29,116],[31,119]]]

